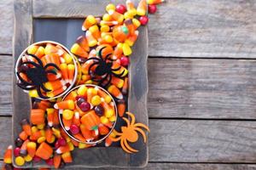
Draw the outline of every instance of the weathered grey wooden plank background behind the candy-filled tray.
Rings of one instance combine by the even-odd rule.
[[[42,2],[33,2],[37,17],[47,16]],[[0,14],[1,165],[11,141],[11,0]],[[256,169],[255,15],[252,0],[167,0],[150,15],[147,169]]]

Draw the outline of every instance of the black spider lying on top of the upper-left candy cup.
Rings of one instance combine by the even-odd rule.
[[[41,92],[41,88],[44,90],[44,92],[49,92],[50,90],[48,88],[44,87],[44,82],[48,82],[47,74],[55,74],[57,75],[57,72],[55,71],[58,70],[60,71],[60,68],[55,65],[54,63],[49,63],[47,65],[43,65],[43,62],[41,59],[38,59],[38,57],[34,54],[28,54],[32,56],[32,58],[36,59],[38,63],[33,62],[33,61],[26,61],[20,63],[18,67],[18,71],[16,72],[17,77],[19,77],[20,82],[17,82],[17,85],[25,90],[32,90],[32,89],[37,89],[38,95],[42,99],[48,99],[49,97],[44,96]],[[33,65],[34,67],[30,68],[27,65]],[[47,70],[47,68],[51,66],[54,67],[55,69]],[[26,74],[26,77],[28,80],[31,82],[27,82],[24,80],[22,77],[20,77],[20,73]]]

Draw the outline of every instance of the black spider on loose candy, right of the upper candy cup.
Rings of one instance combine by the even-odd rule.
[[[98,53],[98,57],[92,57],[88,60],[94,60],[94,63],[90,65],[88,71],[91,77],[91,80],[94,82],[99,82],[99,85],[102,86],[103,88],[106,88],[108,86],[108,84],[111,82],[112,80],[112,76],[114,77],[123,77],[125,71],[122,71],[120,74],[116,74],[113,71],[119,71],[119,69],[121,68],[121,66],[119,66],[116,69],[112,69],[112,65],[113,65],[113,59],[110,59],[110,56],[112,54],[107,54],[105,59],[102,58],[102,50],[106,48],[103,47],[99,50]],[[86,61],[86,62],[87,62]],[[91,71],[91,68],[96,65],[96,69],[95,71]],[[103,82],[105,82],[103,84]]]

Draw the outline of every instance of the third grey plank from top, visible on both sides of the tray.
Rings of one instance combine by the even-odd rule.
[[[1,151],[10,142],[10,120],[1,119]],[[151,119],[149,127],[151,162],[256,162],[256,122]]]

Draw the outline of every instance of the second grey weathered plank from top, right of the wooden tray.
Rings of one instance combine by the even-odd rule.
[[[256,119],[256,60],[148,59],[149,117]]]

